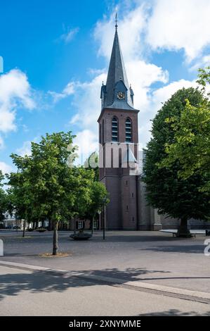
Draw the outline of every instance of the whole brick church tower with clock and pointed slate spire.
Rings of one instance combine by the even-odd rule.
[[[138,227],[138,110],[133,107],[122,51],[115,25],[114,43],[106,85],[101,87],[98,118],[100,181],[110,194],[110,203],[100,215],[108,230]]]

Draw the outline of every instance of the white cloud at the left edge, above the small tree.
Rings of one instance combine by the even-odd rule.
[[[25,73],[13,69],[0,76],[0,132],[14,131],[18,107],[33,109],[32,89]]]

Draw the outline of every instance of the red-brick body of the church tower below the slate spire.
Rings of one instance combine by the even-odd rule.
[[[112,118],[118,121],[118,139],[112,142]],[[131,120],[131,142],[126,142],[126,119]],[[103,167],[100,168],[100,181],[105,184],[110,193],[110,203],[101,214],[101,223],[105,221],[107,229],[136,230],[138,225],[137,211],[137,178],[129,175],[130,169],[122,168],[124,157],[129,146],[138,159],[138,111],[104,108],[98,119],[99,142],[101,144],[100,158]],[[119,144],[123,148],[118,149]],[[110,150],[111,153],[110,154]],[[107,154],[106,154],[107,152]],[[119,155],[119,167],[114,168],[113,158]],[[110,160],[107,160],[110,158]],[[124,165],[125,166],[125,165]]]

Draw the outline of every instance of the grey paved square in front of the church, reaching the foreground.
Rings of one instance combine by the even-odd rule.
[[[181,298],[185,290],[210,296],[210,257],[204,256],[207,237],[203,235],[178,239],[162,232],[107,232],[103,241],[102,232],[96,232],[87,242],[74,242],[70,239],[70,232],[59,232],[59,249],[70,254],[63,258],[39,256],[51,252],[52,232],[27,232],[24,239],[21,233],[3,231],[0,235],[4,239],[5,254],[0,258],[1,263],[10,261],[69,271],[58,277],[56,273],[50,275],[41,270],[0,265],[3,313],[8,315],[8,307],[11,302],[15,306],[18,297],[22,307],[26,307],[24,314],[33,314],[34,309],[34,315],[44,315],[48,314],[48,308],[35,311],[33,307],[37,304],[27,308],[29,301],[53,302],[57,298],[63,307],[61,303],[68,301],[68,294],[76,304],[74,308],[78,305],[83,309],[75,311],[70,304],[71,313],[63,307],[60,315],[210,315],[210,300],[190,299],[184,295]],[[84,274],[86,278],[77,277],[77,273]],[[131,284],[131,288],[127,284]],[[137,288],[135,284],[140,284],[140,287],[148,284],[151,288],[158,285],[160,289],[171,287],[178,294],[171,297],[162,291]],[[103,301],[108,304],[106,310]],[[90,310],[92,302],[93,312]],[[16,313],[21,315],[19,308],[16,308]]]

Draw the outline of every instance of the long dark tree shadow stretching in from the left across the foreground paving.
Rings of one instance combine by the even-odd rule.
[[[109,285],[123,285],[128,280],[139,280],[139,275],[145,275],[147,273],[160,273],[161,271],[147,270],[145,268],[127,268],[122,271],[117,268],[110,268],[104,270],[81,270],[80,274],[86,276],[104,276],[112,278],[112,282],[108,282]],[[1,291],[0,299],[4,299],[5,296],[16,296],[21,291],[30,291],[32,293],[37,292],[64,292],[72,287],[86,287],[92,285],[105,285],[105,280],[91,280],[88,277],[78,277],[78,271],[71,271],[67,273],[60,273],[57,271],[26,271],[22,273],[7,273],[1,275]],[[116,281],[114,280],[116,279]]]

